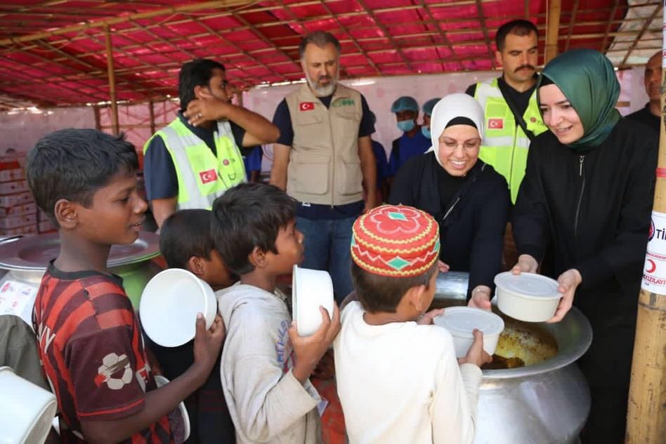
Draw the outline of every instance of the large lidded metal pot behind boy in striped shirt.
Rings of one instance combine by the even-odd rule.
[[[20,304],[20,315],[30,325],[32,303],[48,261],[55,259],[60,252],[60,238],[57,233],[30,235],[19,239],[0,240],[0,313],[3,313],[3,294],[20,292],[25,299],[32,301]],[[142,231],[133,244],[114,245],[109,254],[109,270],[123,278],[125,292],[138,308],[143,287],[161,268],[150,259],[159,256],[159,236]],[[7,309],[7,307],[5,307]],[[6,312],[6,310],[5,310]]]

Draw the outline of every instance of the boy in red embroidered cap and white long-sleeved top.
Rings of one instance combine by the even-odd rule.
[[[474,440],[479,366],[490,357],[475,330],[458,365],[450,333],[431,325],[443,310],[425,313],[435,294],[439,249],[438,223],[419,209],[384,205],[354,223],[358,301],[342,311],[334,342],[351,443]]]

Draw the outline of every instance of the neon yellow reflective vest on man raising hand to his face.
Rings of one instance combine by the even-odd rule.
[[[229,122],[217,122],[214,136],[217,155],[178,117],[153,137],[156,136],[162,137],[176,169],[176,209],[211,209],[216,197],[246,180],[242,155]],[[144,155],[148,142],[143,147]]]

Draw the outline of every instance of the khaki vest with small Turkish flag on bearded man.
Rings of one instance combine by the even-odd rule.
[[[299,202],[332,206],[363,200],[360,93],[338,84],[327,109],[303,84],[285,100],[294,129],[287,194]]]

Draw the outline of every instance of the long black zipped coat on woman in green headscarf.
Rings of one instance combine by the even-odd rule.
[[[580,271],[573,303],[594,338],[578,365],[593,388],[620,387],[625,395],[658,148],[655,133],[641,129],[620,119],[606,141],[585,153],[561,145],[550,131],[540,134],[513,212],[519,253],[540,260],[550,239],[552,277]]]

